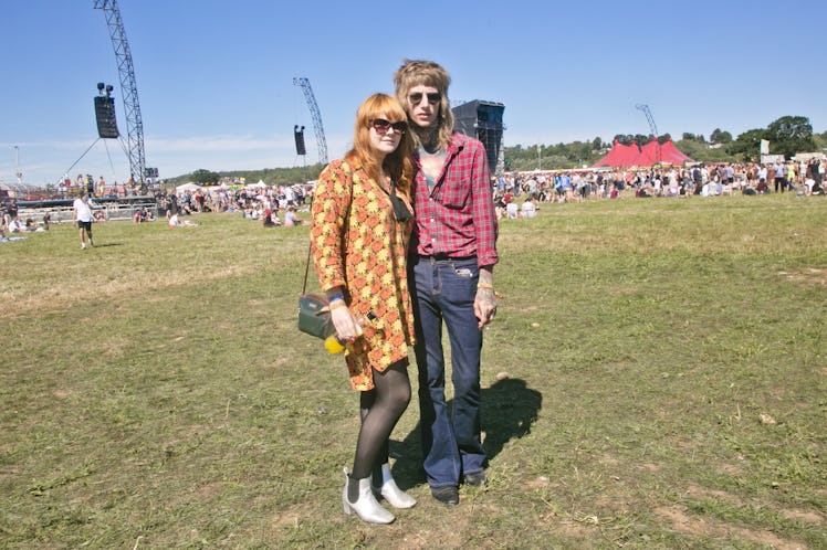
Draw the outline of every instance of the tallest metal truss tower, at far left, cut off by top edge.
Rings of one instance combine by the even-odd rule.
[[[135,68],[132,63],[129,43],[126,41],[124,22],[121,20],[121,10],[118,10],[116,0],[94,0],[94,9],[104,12],[112,38],[112,47],[115,50],[115,59],[117,60],[121,93],[124,96],[124,110],[126,112],[129,171],[133,179],[142,188],[145,188],[144,121],[140,118],[138,85],[135,83]]]

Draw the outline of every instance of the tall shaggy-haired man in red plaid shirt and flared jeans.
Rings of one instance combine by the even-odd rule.
[[[485,484],[480,427],[482,329],[496,314],[496,214],[484,146],[453,131],[448,72],[405,61],[396,95],[416,138],[410,246],[423,466],[431,494],[459,503],[459,485]],[[451,345],[452,412],[446,403],[442,321]]]

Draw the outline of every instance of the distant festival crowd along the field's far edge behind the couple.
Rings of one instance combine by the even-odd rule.
[[[534,218],[540,203],[568,203],[622,197],[719,197],[794,192],[803,197],[825,194],[827,161],[784,163],[697,163],[687,167],[624,168],[609,170],[546,170],[506,172],[492,178],[498,219]],[[161,200],[177,201],[181,215],[197,212],[233,212],[266,228],[303,222],[313,184],[200,188]],[[172,198],[174,197],[174,198]],[[167,219],[170,214],[167,215]],[[137,214],[136,214],[137,216]],[[136,219],[136,221],[138,221]]]

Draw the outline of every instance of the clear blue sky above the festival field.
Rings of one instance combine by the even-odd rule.
[[[97,139],[96,83],[117,64],[93,0],[3,2],[0,181],[54,182]],[[132,51],[146,161],[160,177],[302,166],[318,159],[307,77],[329,159],[342,156],[356,107],[391,92],[404,57],[452,76],[452,102],[505,105],[506,146],[649,134],[737,136],[778,117],[827,130],[824,0],[617,2],[118,0]],[[820,39],[818,38],[820,36]],[[297,157],[293,125],[306,126]],[[128,177],[116,140],[72,168]]]

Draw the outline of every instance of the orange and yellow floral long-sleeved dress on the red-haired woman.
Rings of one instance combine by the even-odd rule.
[[[311,212],[311,248],[322,289],[343,286],[356,318],[369,311],[376,316],[364,336],[345,348],[350,385],[371,390],[371,369],[383,372],[407,359],[415,341],[407,273],[414,221],[396,221],[387,191],[359,162],[346,160],[334,160],[318,177]]]

